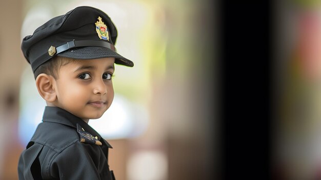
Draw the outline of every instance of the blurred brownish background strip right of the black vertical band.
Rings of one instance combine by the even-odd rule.
[[[272,177],[321,179],[321,2],[273,7]]]

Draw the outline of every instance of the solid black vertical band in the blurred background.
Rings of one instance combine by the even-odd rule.
[[[270,144],[273,1],[220,1],[222,179],[265,179]]]

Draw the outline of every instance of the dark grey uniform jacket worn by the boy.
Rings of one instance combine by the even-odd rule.
[[[79,128],[97,136],[101,146],[79,141]],[[87,137],[86,137],[87,138]],[[19,158],[19,179],[114,179],[109,170],[112,148],[81,118],[57,107],[46,107],[27,149]]]

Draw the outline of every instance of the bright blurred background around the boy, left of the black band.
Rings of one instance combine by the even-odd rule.
[[[89,123],[113,146],[109,164],[116,179],[219,177],[215,5],[205,0],[1,2],[0,179],[17,179],[19,155],[45,107],[20,49],[22,38],[77,6],[105,11],[118,30],[117,51],[135,64],[115,67],[114,102]]]

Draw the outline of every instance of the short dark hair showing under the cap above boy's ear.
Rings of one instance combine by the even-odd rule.
[[[77,59],[62,57],[62,56],[55,56],[55,57],[51,58],[49,61],[47,61],[46,63],[39,66],[34,71],[34,78],[36,79],[39,74],[45,73],[45,74],[51,75],[55,79],[57,79],[59,69],[62,66],[65,66],[65,65],[69,64],[70,62],[75,62],[75,61],[77,61]]]

